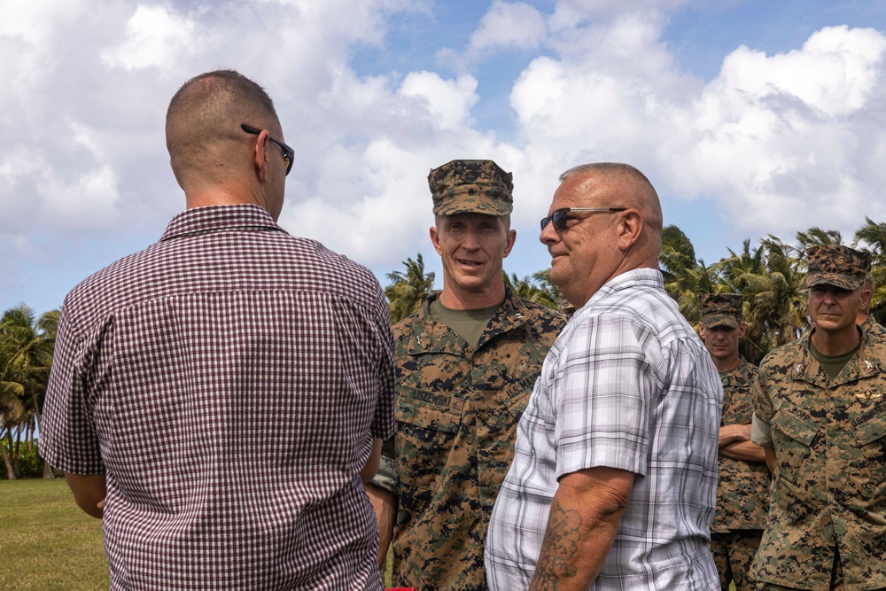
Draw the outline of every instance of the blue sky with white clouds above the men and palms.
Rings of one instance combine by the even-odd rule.
[[[514,173],[518,276],[587,161],[640,167],[709,264],[886,219],[879,2],[0,0],[0,56],[0,310],[58,307],[160,236],[168,100],[217,67],[268,89],[296,149],[281,225],[382,284],[419,252],[439,278],[425,179],[456,158]]]

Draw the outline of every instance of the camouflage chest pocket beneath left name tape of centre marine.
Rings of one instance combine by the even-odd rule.
[[[428,394],[400,387],[394,408],[397,472],[402,484],[436,493],[462,424],[463,401]]]

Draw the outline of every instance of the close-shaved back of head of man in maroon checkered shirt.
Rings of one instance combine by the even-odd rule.
[[[244,174],[250,143],[242,123],[281,136],[268,93],[242,74],[207,72],[175,93],[167,110],[167,150],[186,192],[195,183],[222,184]]]

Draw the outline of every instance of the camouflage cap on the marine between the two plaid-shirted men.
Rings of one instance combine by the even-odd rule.
[[[434,215],[507,215],[514,209],[513,175],[492,160],[452,160],[431,169]]]

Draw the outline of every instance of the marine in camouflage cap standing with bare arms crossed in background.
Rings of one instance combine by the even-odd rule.
[[[763,448],[750,440],[754,412],[751,388],[757,366],[738,352],[744,336],[738,293],[711,293],[699,297],[698,330],[723,382],[723,415],[719,430],[717,513],[711,525],[711,554],[720,585],[727,591],[754,588],[750,564],[760,545],[769,510],[769,470]]]

